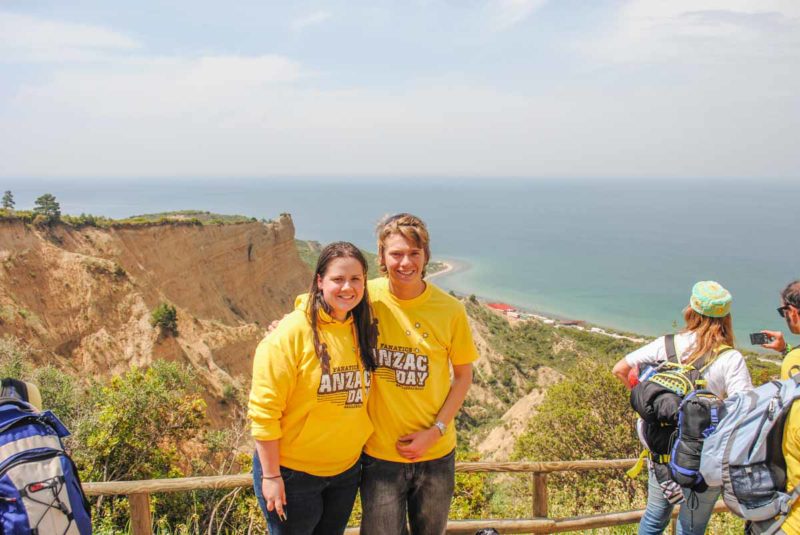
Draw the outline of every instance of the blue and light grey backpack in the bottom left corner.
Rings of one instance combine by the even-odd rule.
[[[26,384],[2,380],[0,392],[0,533],[91,535],[89,503],[64,451],[69,436],[50,411],[28,403]]]

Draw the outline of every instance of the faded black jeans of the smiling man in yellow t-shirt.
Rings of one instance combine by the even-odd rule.
[[[417,463],[361,456],[361,535],[442,535],[455,486],[456,454]]]

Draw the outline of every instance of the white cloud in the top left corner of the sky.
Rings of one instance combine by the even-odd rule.
[[[0,11],[0,61],[92,61],[135,50],[135,39],[100,26]]]

